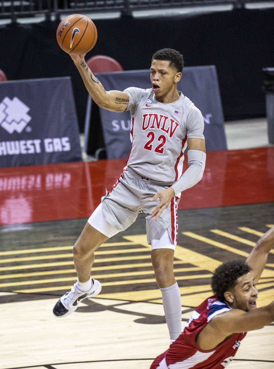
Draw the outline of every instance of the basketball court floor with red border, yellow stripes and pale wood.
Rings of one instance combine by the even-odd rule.
[[[0,170],[0,369],[146,369],[167,349],[162,299],[145,218],[96,252],[94,299],[55,318],[76,281],[72,245],[124,160]],[[200,183],[183,193],[174,270],[183,324],[211,294],[220,263],[243,259],[274,223],[274,147],[207,153]],[[274,300],[274,251],[258,306]],[[231,369],[274,368],[274,324],[249,332]]]

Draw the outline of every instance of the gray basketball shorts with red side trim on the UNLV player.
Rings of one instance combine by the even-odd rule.
[[[163,183],[144,178],[128,167],[124,169],[112,189],[102,197],[100,206],[94,211],[88,222],[101,233],[111,237],[134,223],[139,213],[145,213],[148,244],[152,244],[152,246],[153,243],[158,244],[159,247],[155,248],[169,244],[169,248],[175,249],[178,231],[176,197],[171,199],[171,203],[164,209],[157,221],[155,217],[150,218],[149,214],[153,207],[159,203],[159,199],[156,201],[149,201],[149,199],[157,191],[167,189],[171,184],[172,182]],[[103,224],[99,212],[103,212],[106,224]]]

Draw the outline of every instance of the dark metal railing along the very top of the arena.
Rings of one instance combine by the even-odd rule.
[[[90,12],[121,12],[131,15],[136,10],[231,5],[243,8],[247,3],[273,3],[273,0],[5,0],[0,2],[0,20],[16,22],[19,18],[58,19],[60,15]]]

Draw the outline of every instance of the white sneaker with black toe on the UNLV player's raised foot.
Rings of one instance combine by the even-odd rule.
[[[77,309],[78,304],[89,297],[94,297],[101,292],[102,286],[97,279],[92,279],[92,287],[87,292],[82,292],[76,287],[77,283],[74,283],[71,291],[65,293],[58,303],[53,308],[53,314],[62,318],[65,317]]]

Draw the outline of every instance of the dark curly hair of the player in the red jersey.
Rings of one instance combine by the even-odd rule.
[[[246,261],[234,260],[223,263],[215,269],[211,278],[211,288],[218,299],[225,301],[224,293],[236,286],[237,279],[252,270]]]

